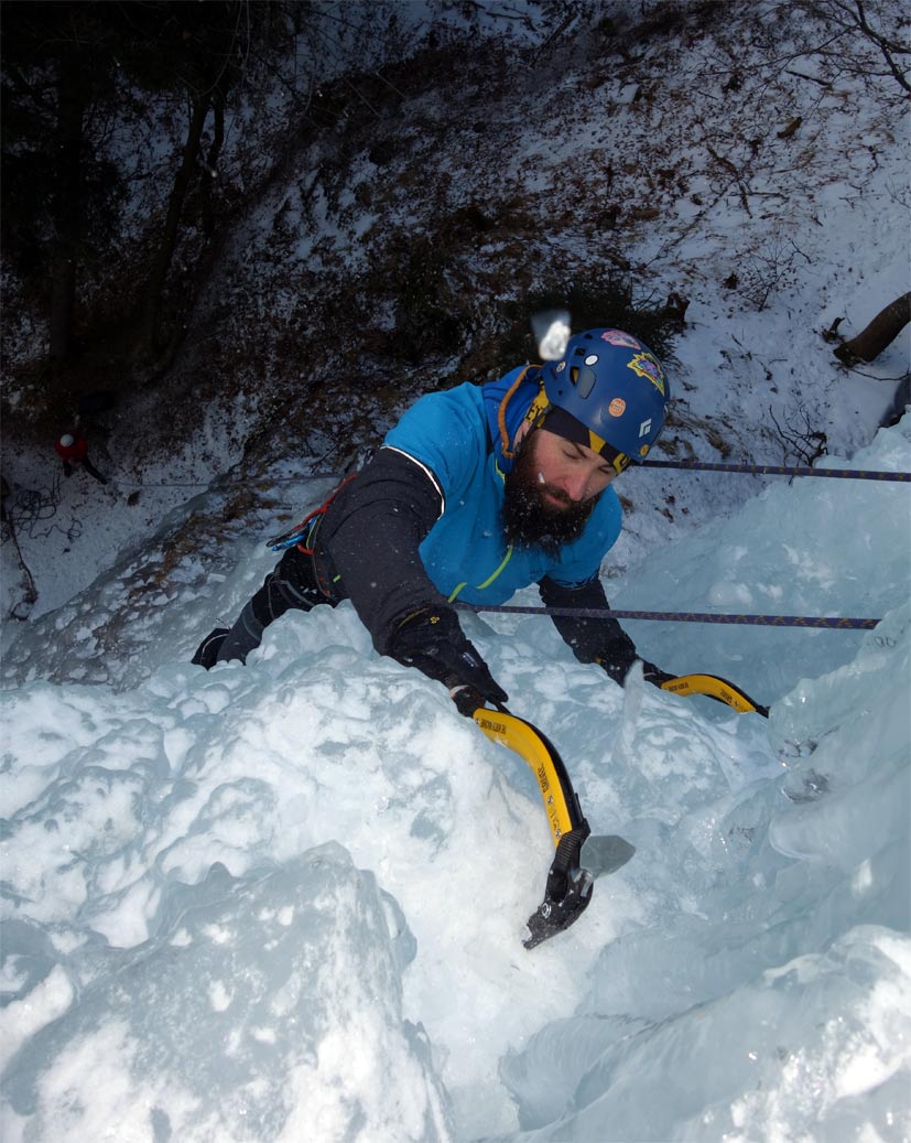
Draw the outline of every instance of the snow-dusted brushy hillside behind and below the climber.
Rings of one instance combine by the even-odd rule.
[[[38,598],[23,601],[5,544],[5,616],[58,608],[216,477],[238,512],[251,485],[256,512],[278,457],[343,470],[417,392],[514,363],[504,306],[622,267],[640,303],[688,302],[665,455],[794,462],[813,433],[842,454],[871,439],[908,337],[847,370],[822,334],[837,318],[856,333],[908,286],[909,119],[876,42],[841,35],[833,62],[802,9],[768,3],[708,24],[696,9],[662,23],[653,6],[637,24],[634,6],[583,7],[572,26],[501,19],[466,42],[443,9],[435,48],[357,77],[331,131],[305,117],[288,138],[171,375],[90,426],[107,488],[59,480],[50,442],[7,417],[8,506]],[[418,43],[429,16],[409,13]],[[893,30],[900,13],[876,8]],[[634,499],[615,558],[758,487],[668,477],[660,499]],[[279,507],[297,512],[304,494],[288,491]],[[217,537],[207,527],[199,546]]]

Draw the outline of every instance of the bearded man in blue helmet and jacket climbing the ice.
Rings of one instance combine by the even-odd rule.
[[[366,467],[293,533],[231,629],[193,662],[246,662],[285,612],[350,599],[381,655],[449,688],[471,717],[504,703],[455,602],[606,609],[599,569],[621,530],[613,481],[664,425],[669,385],[630,334],[576,334],[559,361],[422,397]],[[278,542],[275,542],[278,544]],[[616,620],[554,616],[574,654],[623,684],[636,646]],[[673,676],[644,663],[661,686]]]

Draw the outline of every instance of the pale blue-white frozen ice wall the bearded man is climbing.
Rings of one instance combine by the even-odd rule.
[[[911,469],[908,418],[853,463]],[[126,589],[46,617],[3,695],[3,1138],[906,1138],[908,499],[776,485],[616,585],[884,616],[638,626],[768,722],[621,689],[541,617],[464,616],[594,832],[636,847],[533,953],[534,776],[349,605],[286,616],[246,668],[190,666],[189,626],[259,580],[250,545],[207,598],[143,614],[161,665],[118,689],[47,677]]]

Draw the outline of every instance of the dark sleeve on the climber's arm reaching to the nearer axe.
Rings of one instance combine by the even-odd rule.
[[[381,448],[320,522],[317,561],[328,568],[337,598],[354,605],[381,655],[390,654],[409,615],[449,606],[417,551],[442,510],[435,477],[403,453]]]

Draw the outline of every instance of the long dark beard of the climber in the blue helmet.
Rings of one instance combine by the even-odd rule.
[[[550,488],[537,479],[534,433],[522,442],[512,472],[504,480],[503,531],[513,547],[540,547],[551,559],[560,549],[578,539],[600,496],[572,501],[559,488]],[[554,507],[542,498],[546,488],[562,499],[566,507]]]

